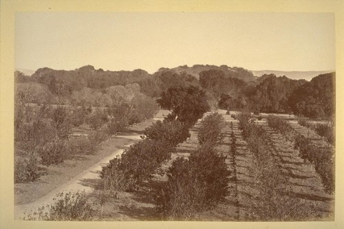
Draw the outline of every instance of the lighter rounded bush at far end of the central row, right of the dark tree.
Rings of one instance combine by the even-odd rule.
[[[224,139],[222,129],[226,126],[224,118],[219,113],[212,113],[206,116],[198,130],[198,142],[200,144],[210,144],[216,146]]]

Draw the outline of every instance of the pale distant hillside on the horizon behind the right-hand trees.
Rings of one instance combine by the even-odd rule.
[[[315,76],[319,76],[320,74],[326,74],[326,73],[334,72],[334,71],[286,72],[286,71],[275,71],[275,70],[261,70],[261,71],[251,70],[251,72],[255,76],[263,76],[264,74],[275,74],[276,76],[286,76],[292,80],[304,79],[304,80],[310,81]]]

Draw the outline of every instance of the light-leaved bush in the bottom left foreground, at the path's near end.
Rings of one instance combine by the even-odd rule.
[[[54,204],[42,206],[25,215],[24,220],[85,221],[91,219],[92,208],[85,192],[58,193]]]

